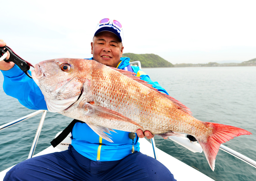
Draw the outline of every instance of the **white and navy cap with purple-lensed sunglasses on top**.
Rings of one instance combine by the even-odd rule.
[[[121,23],[116,20],[104,18],[100,20],[100,23],[97,25],[94,36],[100,32],[108,31],[114,33],[123,43],[123,29]]]

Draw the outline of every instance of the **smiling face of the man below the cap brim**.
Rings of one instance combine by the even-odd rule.
[[[124,47],[119,38],[111,32],[100,32],[91,42],[93,60],[110,67],[117,67]]]

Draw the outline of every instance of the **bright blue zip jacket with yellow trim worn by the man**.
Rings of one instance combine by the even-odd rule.
[[[92,59],[92,58],[91,58]],[[130,65],[130,58],[121,58],[117,66],[118,69],[132,71],[142,80],[145,80],[167,94],[167,92],[157,83],[150,80],[139,67]],[[8,71],[2,71],[4,75],[4,92],[17,98],[19,102],[29,109],[47,110],[44,96],[36,85],[18,66],[14,66]],[[29,72],[31,74],[31,72]],[[87,124],[77,122],[72,130],[72,146],[81,155],[93,161],[115,161],[124,158],[132,153],[132,140],[129,138],[129,132],[115,130],[111,139],[113,143],[102,139]],[[140,151],[138,136],[134,139],[135,151]]]

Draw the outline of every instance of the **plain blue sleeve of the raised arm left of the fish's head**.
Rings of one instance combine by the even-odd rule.
[[[28,109],[47,110],[41,90],[18,66],[1,72],[4,76],[3,89],[7,95],[17,98],[20,104]],[[28,72],[31,75],[31,72]]]

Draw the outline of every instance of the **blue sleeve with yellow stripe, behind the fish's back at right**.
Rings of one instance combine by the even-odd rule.
[[[161,85],[159,85],[158,82],[153,82],[150,79],[150,77],[145,72],[143,72],[139,67],[132,66],[132,70],[133,70],[134,73],[137,74],[137,76],[141,77],[140,78],[141,80],[144,80],[144,81],[148,82],[149,84],[152,84],[152,87],[156,88],[158,91],[169,95],[167,93],[167,91],[165,91],[165,89]]]

